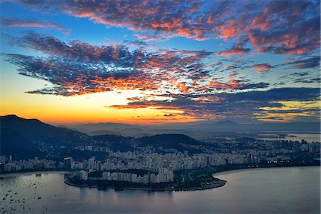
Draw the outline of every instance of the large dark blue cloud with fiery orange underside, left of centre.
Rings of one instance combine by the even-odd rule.
[[[170,49],[148,52],[139,48],[130,50],[124,45],[93,46],[81,41],[65,43],[54,36],[32,31],[19,38],[10,38],[10,44],[45,54],[44,57],[5,54],[8,61],[18,66],[21,75],[54,85],[29,93],[62,96],[157,88],[192,93],[200,90],[199,84],[208,78],[203,59],[213,54]]]

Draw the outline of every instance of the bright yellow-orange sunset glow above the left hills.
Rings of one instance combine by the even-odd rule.
[[[81,96],[33,95],[29,93],[1,94],[1,116],[16,114],[22,118],[36,118],[44,123],[128,123],[158,124],[197,121],[192,116],[183,116],[183,111],[157,108],[116,109],[116,104],[126,105],[127,98],[139,96],[141,91],[111,91]],[[17,98],[19,97],[19,99]],[[170,115],[170,116],[169,116]]]

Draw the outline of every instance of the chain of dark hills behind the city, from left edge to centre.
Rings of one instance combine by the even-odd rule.
[[[49,153],[50,157],[56,157],[58,160],[71,154],[88,158],[93,151],[81,150],[84,146],[103,146],[121,152],[140,150],[144,146],[190,153],[200,152],[196,148],[200,142],[184,134],[160,134],[143,138],[112,134],[90,137],[68,128],[55,127],[36,119],[24,119],[14,115],[1,116],[0,126],[1,155],[13,155],[17,159],[44,157]],[[41,150],[46,152],[42,153]],[[102,155],[106,156],[106,153]]]

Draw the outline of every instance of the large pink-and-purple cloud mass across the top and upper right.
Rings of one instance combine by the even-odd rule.
[[[16,1],[94,23],[127,28],[146,41],[184,37],[245,38],[259,53],[305,54],[320,49],[320,1]],[[250,50],[233,47],[222,56]]]

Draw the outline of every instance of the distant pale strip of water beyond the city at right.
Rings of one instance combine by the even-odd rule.
[[[284,137],[277,137],[279,136],[277,133],[267,133],[267,134],[260,134],[262,140],[265,141],[280,141],[280,140],[287,140],[287,141],[298,141],[301,142],[302,139],[307,141],[308,143],[312,142],[320,142],[320,133],[282,133],[287,136]],[[265,137],[265,136],[275,136],[273,138]]]

